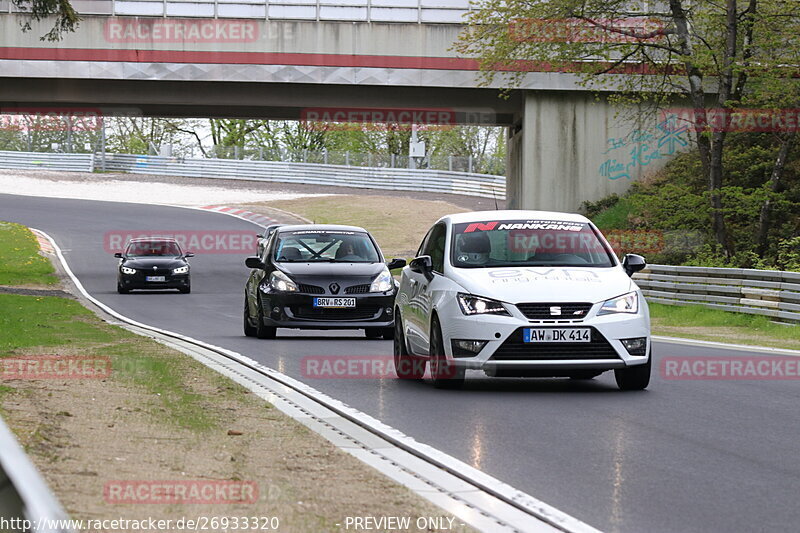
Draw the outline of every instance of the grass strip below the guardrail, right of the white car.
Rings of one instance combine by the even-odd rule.
[[[654,335],[800,350],[800,327],[776,324],[765,316],[701,305],[649,306]]]

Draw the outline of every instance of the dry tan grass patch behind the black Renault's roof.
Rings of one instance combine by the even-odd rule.
[[[387,258],[414,255],[425,233],[457,205],[399,196],[322,196],[265,204],[304,216],[318,224],[348,224],[372,233]]]

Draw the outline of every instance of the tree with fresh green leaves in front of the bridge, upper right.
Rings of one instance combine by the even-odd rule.
[[[479,59],[487,83],[500,77],[513,87],[544,68],[577,73],[586,87],[614,90],[622,103],[688,101],[712,233],[734,253],[722,192],[729,111],[756,88],[792,80],[800,3],[479,0],[468,22],[456,50]],[[723,124],[712,127],[711,110],[722,110]]]

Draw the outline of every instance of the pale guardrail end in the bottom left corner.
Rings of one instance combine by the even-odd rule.
[[[73,533],[67,514],[2,419],[0,517],[6,520],[5,525],[0,525],[3,531]],[[29,523],[25,524],[25,520]]]

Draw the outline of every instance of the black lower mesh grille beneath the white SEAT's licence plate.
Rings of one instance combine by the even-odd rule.
[[[526,343],[522,330],[517,329],[492,355],[495,361],[520,361],[525,359],[619,359],[617,351],[596,329],[592,329],[591,342]]]

